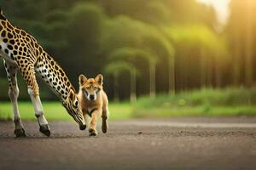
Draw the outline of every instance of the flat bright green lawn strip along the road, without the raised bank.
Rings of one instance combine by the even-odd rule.
[[[20,116],[22,120],[35,120],[30,102],[20,102]],[[129,103],[109,105],[111,120],[125,120],[136,117],[172,117],[172,116],[256,116],[256,106],[161,106],[137,107]],[[49,121],[73,120],[58,102],[44,102],[45,116]],[[13,117],[10,102],[0,103],[0,120],[11,120]]]

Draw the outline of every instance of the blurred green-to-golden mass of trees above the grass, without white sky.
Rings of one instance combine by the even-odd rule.
[[[76,88],[80,73],[102,73],[112,99],[253,85],[253,0],[231,2],[223,31],[213,8],[195,0],[0,0],[0,6],[38,39]],[[20,98],[26,99],[20,82]],[[0,99],[8,99],[3,65],[0,90]],[[45,86],[41,96],[55,99]]]

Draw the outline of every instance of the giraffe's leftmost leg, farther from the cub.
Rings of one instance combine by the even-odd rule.
[[[20,92],[16,77],[18,68],[15,65],[8,65],[5,61],[3,62],[9,81],[9,98],[12,102],[14,111],[15,135],[16,137],[26,137],[26,133],[20,119],[20,112],[18,108],[18,96]]]

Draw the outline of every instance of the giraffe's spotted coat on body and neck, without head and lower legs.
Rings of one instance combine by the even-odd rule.
[[[12,26],[9,20],[1,20],[0,35],[0,49],[9,57],[5,60],[12,60],[18,65],[28,87],[38,94],[38,83],[34,76],[38,73],[55,94],[60,95],[61,99],[67,99],[70,89],[74,90],[73,86],[65,72],[34,37]]]

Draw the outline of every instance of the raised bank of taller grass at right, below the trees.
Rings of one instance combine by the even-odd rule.
[[[256,105],[256,88],[202,88],[176,95],[160,94],[155,99],[141,97],[135,104],[140,107],[180,107],[180,106],[236,106]]]

